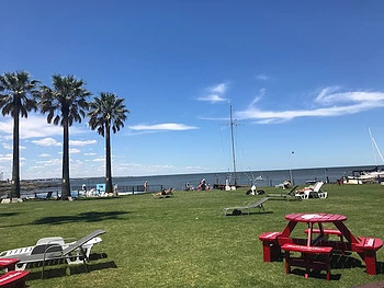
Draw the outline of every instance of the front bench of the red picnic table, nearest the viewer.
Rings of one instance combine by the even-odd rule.
[[[281,246],[285,251],[285,273],[291,273],[291,266],[304,267],[306,269],[305,278],[308,278],[310,269],[326,270],[327,280],[330,280],[330,254],[332,247],[328,246],[304,246],[286,243]],[[302,257],[291,257],[290,252],[300,252]],[[314,260],[310,255],[320,254],[325,256],[325,261]]]

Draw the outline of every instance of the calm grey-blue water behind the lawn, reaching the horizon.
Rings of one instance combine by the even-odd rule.
[[[341,166],[341,168],[315,168],[315,169],[296,169],[292,170],[292,177],[294,184],[305,184],[306,181],[326,181],[336,182],[343,175],[351,174],[353,170],[369,170],[374,166]],[[261,176],[262,180],[257,180]],[[231,178],[234,183],[234,175],[229,173],[203,173],[203,174],[180,174],[180,175],[159,175],[159,176],[133,176],[133,177],[114,177],[113,184],[118,187],[143,185],[145,181],[148,185],[162,185],[166,188],[173,187],[182,189],[185,183],[196,187],[202,178],[206,183],[213,185],[215,183],[224,184],[227,177]],[[274,170],[274,171],[245,171],[237,172],[237,183],[251,185],[256,183],[257,186],[274,186],[285,180],[290,180],[290,170]],[[75,178],[71,185],[81,186],[86,184],[88,187],[94,187],[95,184],[104,183],[103,177],[92,178]]]

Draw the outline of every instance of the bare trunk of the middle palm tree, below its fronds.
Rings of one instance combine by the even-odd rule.
[[[68,200],[70,196],[69,182],[69,127],[68,116],[64,116],[64,137],[63,137],[63,182],[61,182],[61,199]]]

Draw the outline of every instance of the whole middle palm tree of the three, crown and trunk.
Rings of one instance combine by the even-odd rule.
[[[74,122],[81,123],[88,111],[87,97],[91,95],[83,85],[84,81],[74,76],[54,74],[52,77],[53,89],[42,87],[39,106],[43,114],[47,115],[47,122],[63,126],[63,181],[61,199],[70,196],[69,183],[69,127]]]

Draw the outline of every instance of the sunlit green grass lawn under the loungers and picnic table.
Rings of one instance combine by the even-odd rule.
[[[280,192],[267,187],[267,193]],[[348,217],[354,235],[384,239],[384,186],[326,184],[327,199],[268,200],[267,212],[223,216],[223,208],[263,196],[237,192],[176,192],[75,201],[25,201],[0,205],[0,250],[33,245],[39,238],[81,238],[103,229],[95,260],[83,265],[54,265],[41,280],[32,268],[30,287],[353,287],[384,280],[384,249],[379,275],[368,276],[357,253],[332,264],[332,280],[305,279],[301,269],[285,275],[284,263],[264,263],[258,235],[282,231],[284,215],[330,212]],[[302,228],[302,229],[301,229]],[[303,227],[296,228],[304,237]]]

